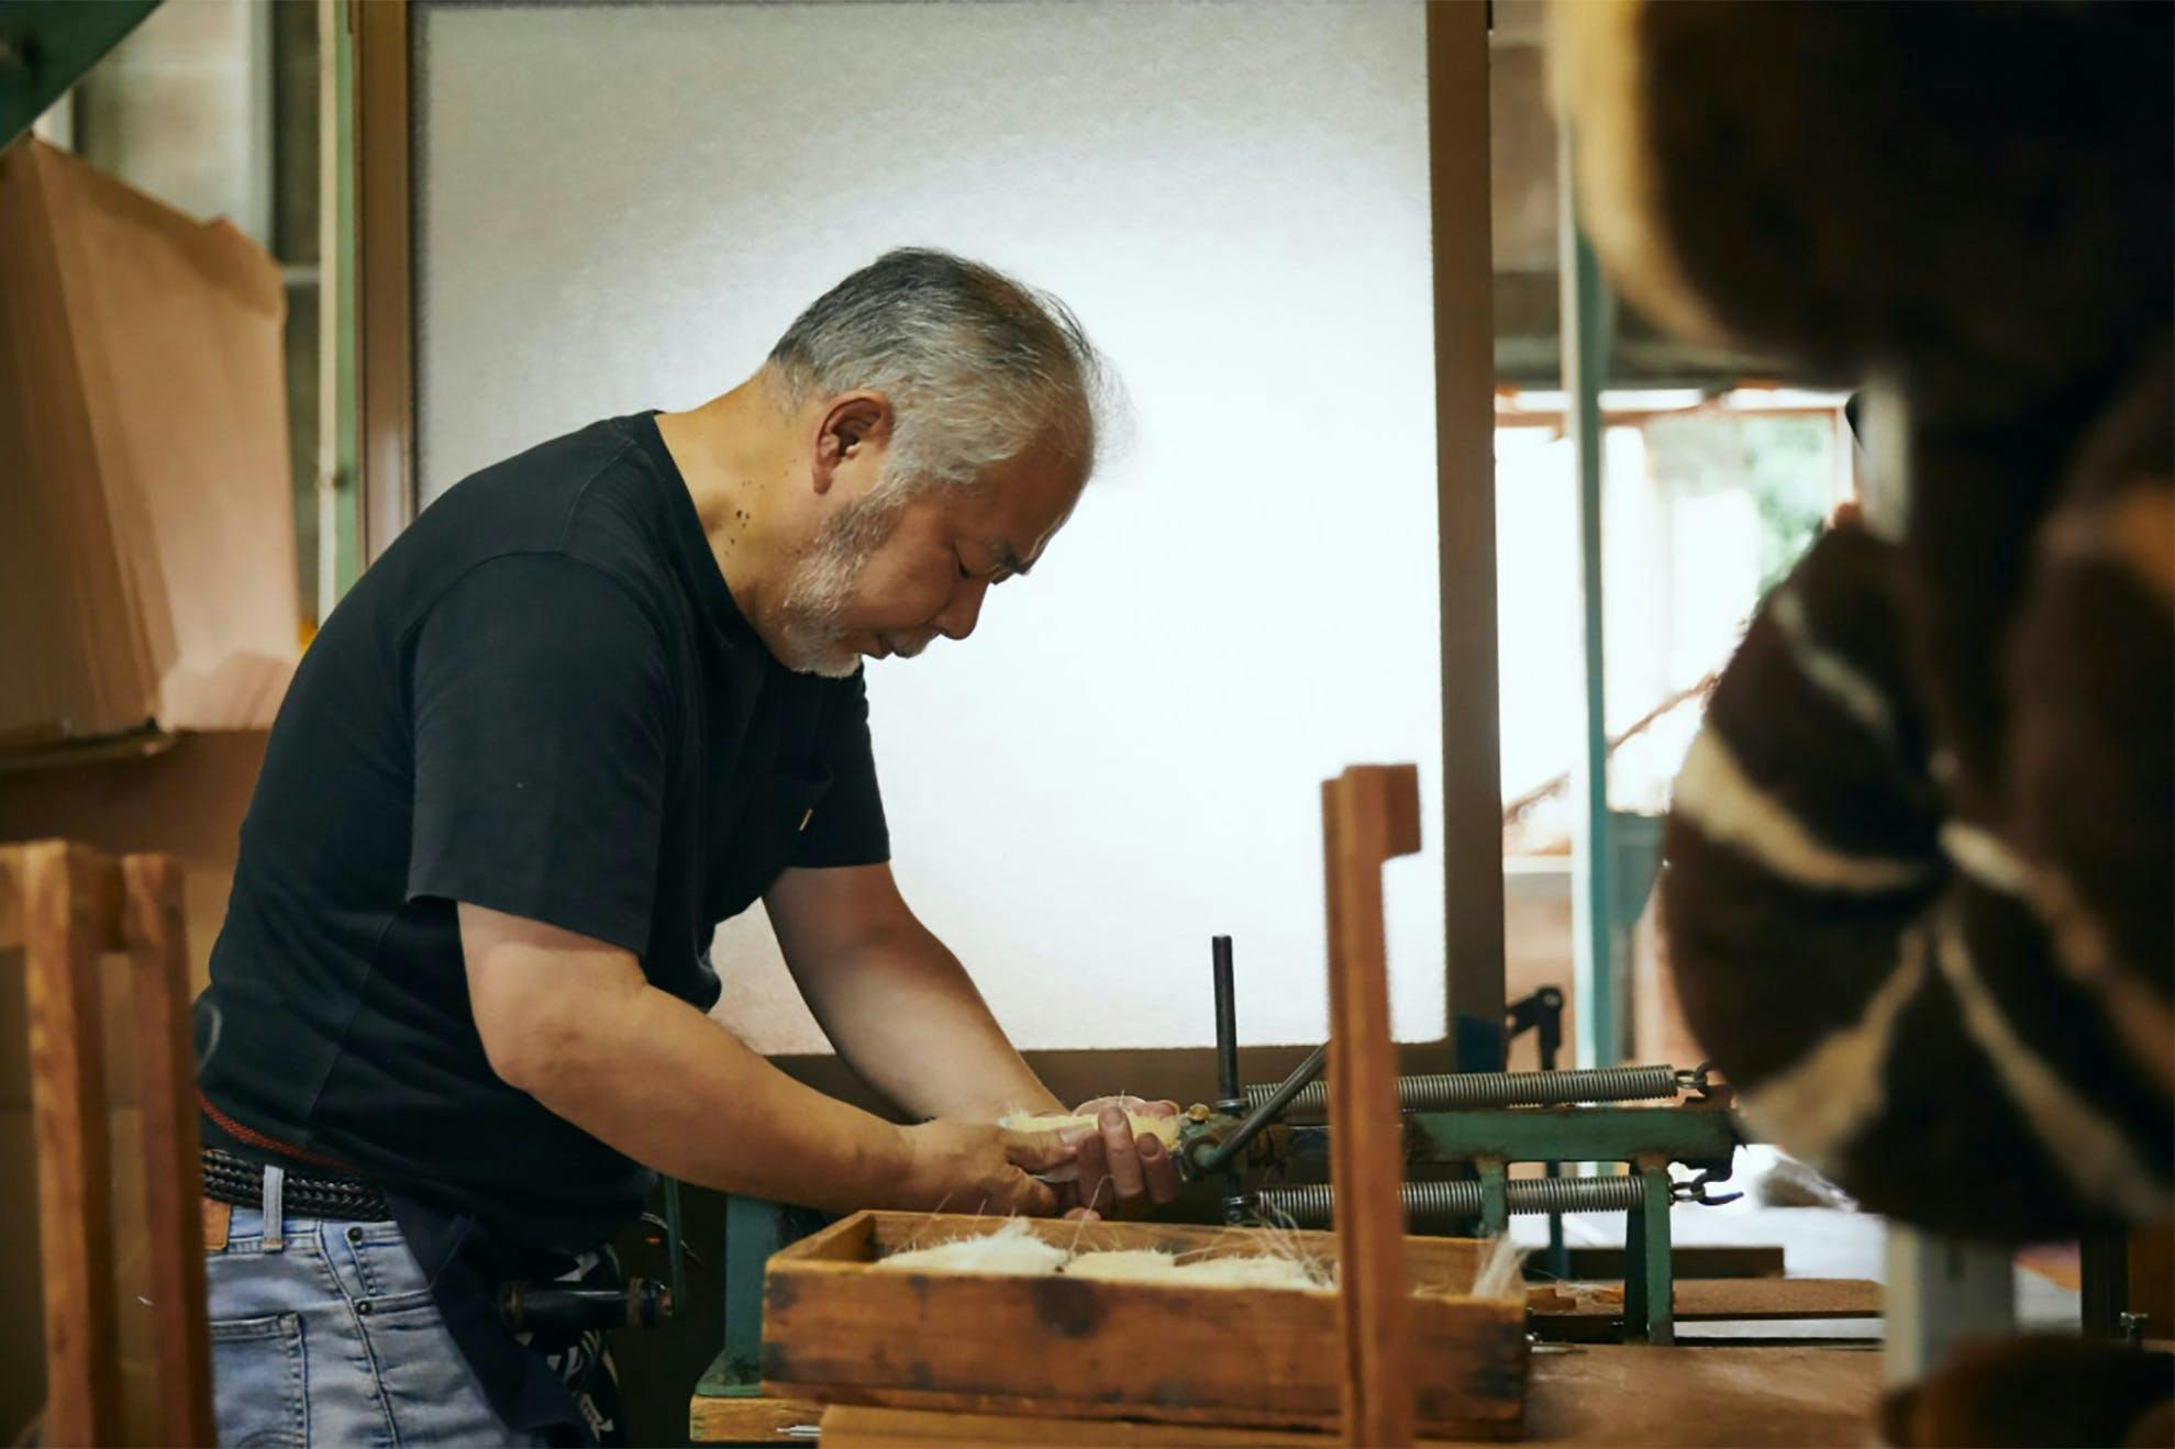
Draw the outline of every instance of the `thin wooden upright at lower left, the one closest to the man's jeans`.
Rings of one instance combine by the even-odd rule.
[[[159,1423],[185,1445],[215,1440],[211,1329],[204,1321],[204,1181],[189,1051],[189,953],[181,866],[170,855],[122,859],[128,988],[144,1107],[144,1199]]]

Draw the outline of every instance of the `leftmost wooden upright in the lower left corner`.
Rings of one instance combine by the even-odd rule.
[[[100,864],[63,842],[24,846],[30,1123],[46,1303],[48,1445],[109,1445],[120,1429],[107,1073],[98,1020]]]

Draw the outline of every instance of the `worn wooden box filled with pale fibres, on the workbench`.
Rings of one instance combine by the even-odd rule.
[[[763,1275],[763,1392],[992,1414],[1257,1427],[1338,1423],[1338,1295],[1085,1277],[872,1271],[907,1247],[1003,1218],[857,1212],[774,1253]],[[1059,1247],[1262,1253],[1259,1231],[1048,1223]],[[1335,1262],[1335,1234],[1279,1234]],[[1516,1438],[1525,1288],[1470,1297],[1488,1242],[1407,1238],[1412,1371],[1429,1436]]]

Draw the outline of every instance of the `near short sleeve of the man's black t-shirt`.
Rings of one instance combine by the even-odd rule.
[[[618,583],[561,555],[470,570],[413,642],[409,899],[648,949],[672,670]]]

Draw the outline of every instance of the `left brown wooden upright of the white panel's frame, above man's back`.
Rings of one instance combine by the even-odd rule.
[[[350,0],[361,413],[357,500],[368,568],[415,518],[415,259],[409,0]]]

